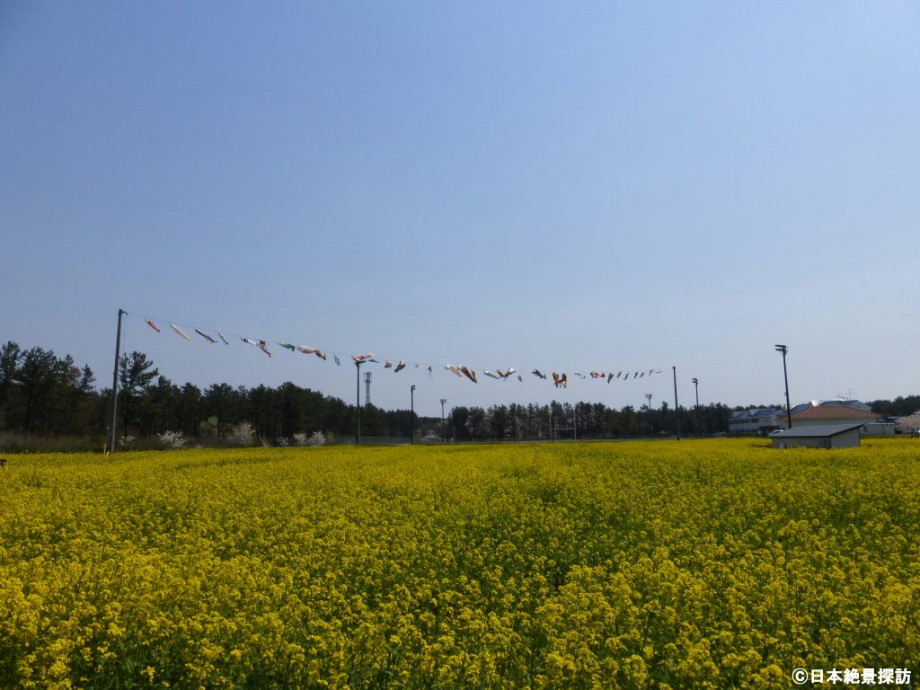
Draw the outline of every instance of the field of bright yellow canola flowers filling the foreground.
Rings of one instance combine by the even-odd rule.
[[[918,535],[906,439],[15,456],[0,687],[915,680]]]

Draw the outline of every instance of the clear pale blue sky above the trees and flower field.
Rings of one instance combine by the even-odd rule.
[[[373,402],[431,415],[658,407],[672,366],[776,403],[776,343],[793,404],[915,394],[918,85],[913,2],[4,0],[0,339],[98,385],[119,308],[373,351],[410,362]],[[190,335],[124,347],[354,399],[351,362]]]

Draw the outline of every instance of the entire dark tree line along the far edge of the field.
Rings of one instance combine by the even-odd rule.
[[[295,434],[322,431],[354,433],[355,408],[293,383],[253,388],[213,384],[174,384],[142,352],[121,357],[119,365],[119,436],[155,438],[167,431],[207,442],[230,437],[240,424],[259,439],[275,443]],[[109,423],[111,390],[98,389],[92,370],[70,355],[21,349],[15,342],[0,348],[0,431],[26,437],[98,437]],[[881,415],[906,415],[920,409],[920,396],[875,400]],[[731,409],[721,404],[680,408],[685,435],[728,431]],[[408,437],[413,431],[407,409],[362,407],[362,435]],[[456,407],[446,420],[415,416],[418,437],[442,435],[455,441],[529,441],[653,436],[677,428],[673,408],[607,408],[601,403]],[[443,423],[442,423],[443,422]],[[442,431],[443,427],[443,431]]]

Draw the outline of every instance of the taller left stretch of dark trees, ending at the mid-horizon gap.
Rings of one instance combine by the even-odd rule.
[[[95,383],[89,366],[77,367],[70,355],[59,358],[50,350],[23,350],[7,342],[0,348],[0,431],[101,442],[109,428],[111,388],[98,389]],[[203,390],[177,385],[136,351],[119,362],[118,411],[118,435],[138,439],[174,431],[221,440],[247,424],[259,439],[274,443],[315,431],[351,434],[355,420],[353,405],[293,383],[253,388],[214,384]],[[416,433],[423,421],[416,416]],[[441,420],[427,421],[430,431]],[[408,437],[411,432],[408,410],[362,408],[364,435]]]

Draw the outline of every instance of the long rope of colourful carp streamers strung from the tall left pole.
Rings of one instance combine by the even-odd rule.
[[[351,358],[351,361],[357,364],[362,364],[365,362],[380,363],[381,361],[383,361],[384,362],[383,368],[392,369],[395,374],[398,374],[399,372],[408,368],[408,364],[405,360],[398,359],[398,358],[392,358],[392,359],[379,358],[377,359],[375,358],[375,355],[373,352],[366,352],[363,354],[345,354],[343,352],[328,351],[328,350],[323,350],[320,348],[307,347],[305,345],[293,345],[290,342],[285,342],[285,341],[280,341],[280,340],[249,338],[247,336],[239,335],[236,333],[230,333],[225,330],[215,330],[213,328],[198,328],[195,326],[188,326],[185,324],[177,324],[177,323],[174,323],[173,321],[162,319],[162,318],[155,320],[155,318],[151,316],[132,314],[130,312],[124,312],[124,314],[126,316],[136,316],[138,318],[143,319],[144,323],[146,323],[147,326],[155,330],[155,332],[158,334],[163,333],[163,328],[160,328],[160,326],[156,323],[156,321],[158,320],[160,322],[165,322],[168,324],[169,328],[176,335],[178,335],[179,338],[184,339],[188,342],[192,342],[194,339],[192,339],[191,336],[188,333],[186,333],[185,330],[183,330],[183,328],[188,328],[189,330],[194,331],[201,338],[201,342],[204,342],[207,345],[217,345],[221,342],[223,342],[224,345],[230,345],[231,341],[238,340],[239,342],[242,342],[247,345],[251,345],[253,347],[258,348],[260,351],[264,352],[269,357],[272,356],[272,352],[269,348],[271,347],[271,349],[273,350],[275,349],[275,346],[277,346],[279,348],[282,348],[288,351],[292,351],[292,352],[301,352],[306,355],[312,354],[316,356],[318,359],[322,360],[323,362],[327,362],[329,355],[332,355],[332,361],[335,362],[336,365],[338,366],[341,366],[343,359]],[[213,331],[213,333],[217,336],[217,338],[214,338],[212,334],[205,332],[208,330]],[[441,370],[441,365],[429,364],[426,362],[414,362],[413,368],[424,371],[425,374],[433,378],[434,372]],[[482,369],[481,367],[479,369],[483,375],[488,376],[489,378],[496,379],[497,381],[507,381],[511,379],[512,377],[516,376],[517,380],[523,383],[523,375],[518,373],[518,370],[512,366],[508,367],[507,369],[496,369],[494,372],[489,371],[489,369]],[[466,366],[466,365],[456,366],[454,364],[444,364],[443,370],[456,375],[458,378],[467,379],[473,382],[474,384],[479,383],[479,378],[477,376],[476,369],[474,369],[473,367]],[[536,368],[532,369],[531,374],[535,375],[539,379],[548,380],[547,374],[544,374],[539,369],[536,369]],[[581,378],[584,380],[587,380],[590,378],[595,381],[606,381],[609,384],[612,381],[627,381],[629,380],[630,377],[632,377],[632,379],[635,380],[638,378],[644,378],[645,376],[651,376],[652,374],[661,374],[661,369],[656,369],[654,367],[651,367],[649,369],[643,368],[643,369],[638,369],[638,370],[622,370],[621,369],[620,371],[616,372],[616,374],[608,370],[603,370],[603,371],[597,370],[597,371],[591,371],[588,374],[581,374],[581,372],[573,372],[571,376]],[[561,374],[557,372],[552,372],[552,374],[550,375],[552,376],[552,379],[553,379],[553,385],[555,385],[557,388],[569,387],[569,374],[566,374],[564,372]]]

